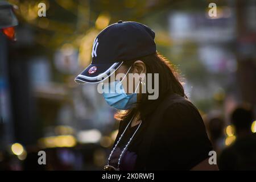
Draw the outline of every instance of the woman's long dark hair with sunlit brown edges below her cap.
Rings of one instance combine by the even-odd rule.
[[[177,69],[170,63],[168,59],[166,59],[166,57],[156,52],[148,56],[125,61],[123,65],[129,68],[133,65],[134,61],[137,60],[143,61],[143,63],[146,65],[147,73],[152,73],[152,75],[154,75],[154,73],[159,74],[159,97],[156,100],[148,100],[149,93],[142,93],[141,99],[136,107],[124,112],[118,111],[118,113],[115,114],[115,119],[130,119],[137,111],[139,111],[141,119],[145,119],[148,114],[155,110],[156,106],[161,100],[163,100],[166,94],[176,93],[182,97],[187,98],[184,93],[183,86],[179,81]],[[133,67],[131,69],[133,69]],[[154,76],[152,76],[152,78],[154,78]],[[152,85],[154,87],[154,80],[152,81]]]

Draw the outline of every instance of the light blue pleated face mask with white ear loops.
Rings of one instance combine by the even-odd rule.
[[[127,73],[129,71],[130,71],[130,68],[127,71]],[[127,110],[134,107],[135,103],[137,102],[136,92],[139,87],[139,84],[135,89],[135,93],[132,93],[132,94],[126,94],[125,89],[123,89],[122,82],[119,80],[106,83],[104,84],[104,88],[105,86],[108,86],[107,88],[109,92],[108,93],[104,92],[103,97],[110,106],[114,107],[115,109],[121,109],[121,110]]]

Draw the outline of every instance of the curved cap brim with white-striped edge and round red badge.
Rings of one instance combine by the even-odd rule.
[[[83,72],[75,78],[78,84],[96,84],[106,80],[117,70],[123,62],[90,64]]]

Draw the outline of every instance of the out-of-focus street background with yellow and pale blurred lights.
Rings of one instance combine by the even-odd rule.
[[[97,85],[74,79],[90,64],[96,35],[118,20],[156,32],[157,50],[179,69],[217,155],[237,139],[232,111],[247,105],[255,114],[256,1],[6,2],[14,5],[19,24],[16,42],[0,32],[2,170],[102,169],[117,135],[115,110]],[[46,17],[38,16],[40,2]],[[217,16],[210,17],[212,2]],[[40,150],[46,151],[46,165],[38,165]]]

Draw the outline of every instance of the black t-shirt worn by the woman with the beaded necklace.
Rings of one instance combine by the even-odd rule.
[[[158,113],[152,113],[158,114]],[[175,96],[172,104],[167,106],[163,116],[152,136],[150,150],[147,161],[142,160],[144,150],[142,140],[145,137],[146,130],[151,125],[147,125],[152,115],[149,115],[145,121],[142,121],[137,133],[134,135],[127,151],[121,159],[121,170],[189,170],[209,157],[209,151],[212,150],[203,119],[191,102],[181,96]],[[156,122],[156,121],[155,121]],[[118,138],[127,126],[129,121],[121,121],[119,125]],[[124,144],[127,144],[137,126],[126,130],[126,134],[118,144],[118,149],[114,151],[114,158],[110,164],[117,164],[119,153]],[[152,134],[153,135],[153,134]],[[146,164],[147,163],[147,164]]]

